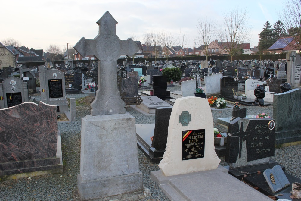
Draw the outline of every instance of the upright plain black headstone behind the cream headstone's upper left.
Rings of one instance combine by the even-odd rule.
[[[169,99],[170,91],[167,91],[167,76],[166,75],[154,75],[153,76],[153,90],[154,96],[160,99]]]

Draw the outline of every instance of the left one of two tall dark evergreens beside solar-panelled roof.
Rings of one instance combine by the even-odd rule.
[[[270,24],[269,21],[265,23],[264,28],[262,29],[262,32],[258,34],[258,37],[259,37],[259,43],[258,43],[259,51],[267,50],[277,41],[276,34],[273,33],[272,25]]]

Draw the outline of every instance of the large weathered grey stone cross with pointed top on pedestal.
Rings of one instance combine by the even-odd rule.
[[[117,59],[120,55],[131,57],[139,47],[131,39],[116,36],[117,21],[107,11],[97,22],[98,35],[93,40],[82,37],[73,47],[80,55],[94,55],[98,59],[98,90],[91,103],[91,115],[125,113],[125,102],[117,88]]]

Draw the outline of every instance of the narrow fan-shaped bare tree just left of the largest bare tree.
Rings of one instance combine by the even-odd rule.
[[[208,61],[208,56],[211,52],[208,50],[208,46],[211,40],[214,37],[216,29],[216,21],[207,20],[207,17],[202,20],[198,20],[197,24],[197,33],[198,33],[198,42],[200,45],[204,46],[203,52],[206,55],[206,60]]]

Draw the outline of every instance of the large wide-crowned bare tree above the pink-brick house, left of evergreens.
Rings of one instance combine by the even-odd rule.
[[[250,42],[251,27],[247,25],[247,9],[235,8],[223,14],[224,27],[217,32],[221,46],[231,56],[241,49],[242,43]]]

